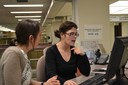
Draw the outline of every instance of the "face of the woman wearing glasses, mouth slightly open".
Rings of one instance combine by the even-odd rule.
[[[74,46],[76,38],[79,36],[77,29],[72,27],[65,34],[62,34],[61,40],[69,46]]]

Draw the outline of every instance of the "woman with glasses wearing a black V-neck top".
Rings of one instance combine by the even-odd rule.
[[[66,21],[54,33],[60,40],[46,51],[46,78],[57,76],[61,85],[78,85],[70,79],[76,77],[77,69],[89,76],[90,64],[86,54],[74,46],[79,36],[77,25]]]

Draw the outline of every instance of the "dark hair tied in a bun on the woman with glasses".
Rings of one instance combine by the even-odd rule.
[[[55,36],[60,38],[60,33],[66,33],[68,30],[72,29],[72,27],[76,29],[78,28],[74,22],[65,21],[64,23],[60,25],[59,30],[54,31]]]

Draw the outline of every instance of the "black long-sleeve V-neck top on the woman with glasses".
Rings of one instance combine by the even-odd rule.
[[[57,75],[58,80],[60,80],[61,85],[63,85],[66,80],[76,77],[77,67],[83,75],[89,76],[90,64],[86,55],[77,55],[71,50],[71,58],[67,62],[62,58],[56,45],[51,46],[46,51],[46,79]]]

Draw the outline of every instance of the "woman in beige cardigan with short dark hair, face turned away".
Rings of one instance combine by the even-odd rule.
[[[33,50],[41,39],[40,24],[23,20],[15,29],[16,46],[8,47],[0,59],[0,85],[60,85],[54,76],[46,82],[32,80],[27,53]],[[15,42],[11,45],[15,45]]]

